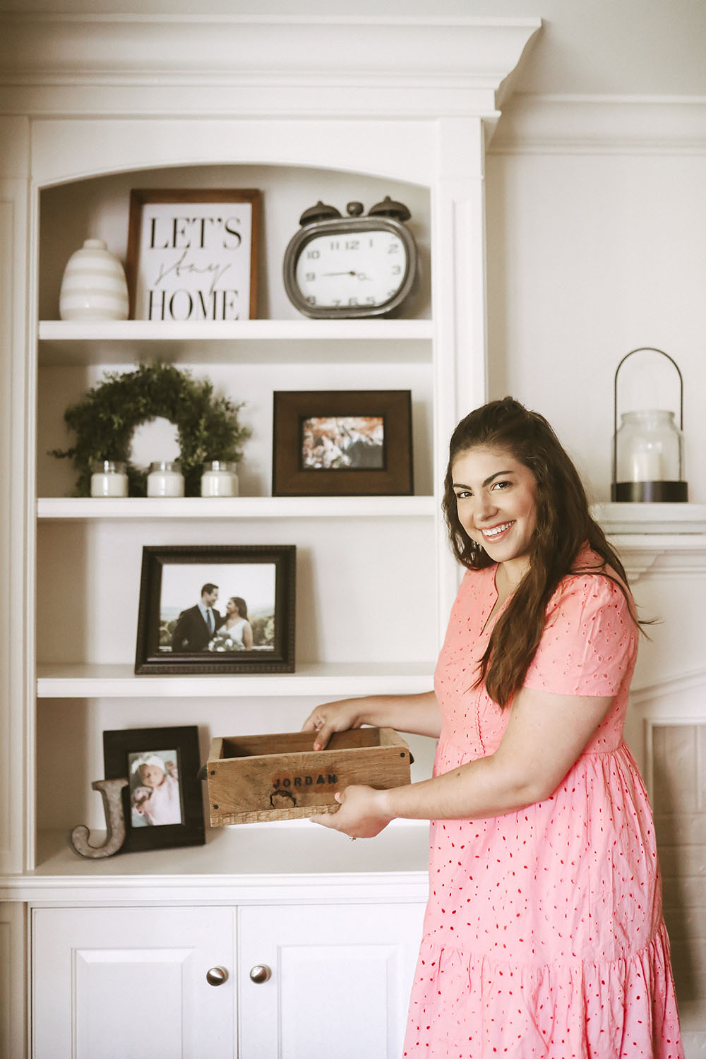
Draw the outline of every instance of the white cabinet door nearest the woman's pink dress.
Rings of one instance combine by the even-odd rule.
[[[240,1059],[399,1059],[421,904],[243,908]],[[253,982],[251,970],[271,976]]]

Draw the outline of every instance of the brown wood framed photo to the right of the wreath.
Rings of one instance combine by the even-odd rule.
[[[273,497],[411,493],[409,390],[274,394]]]

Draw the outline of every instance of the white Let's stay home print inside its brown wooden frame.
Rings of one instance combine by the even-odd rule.
[[[145,202],[135,320],[248,320],[251,202]]]

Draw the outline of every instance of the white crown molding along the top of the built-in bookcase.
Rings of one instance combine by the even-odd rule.
[[[539,19],[0,16],[0,109],[497,118]],[[151,90],[145,93],[145,89]],[[52,94],[58,90],[58,102]],[[330,93],[333,92],[331,98]],[[153,97],[152,97],[153,93]]]

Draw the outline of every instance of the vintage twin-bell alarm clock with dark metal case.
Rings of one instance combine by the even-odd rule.
[[[384,316],[414,286],[417,245],[404,225],[408,208],[387,196],[365,217],[360,202],[346,212],[321,201],[305,210],[285,252],[285,289],[306,317]]]

